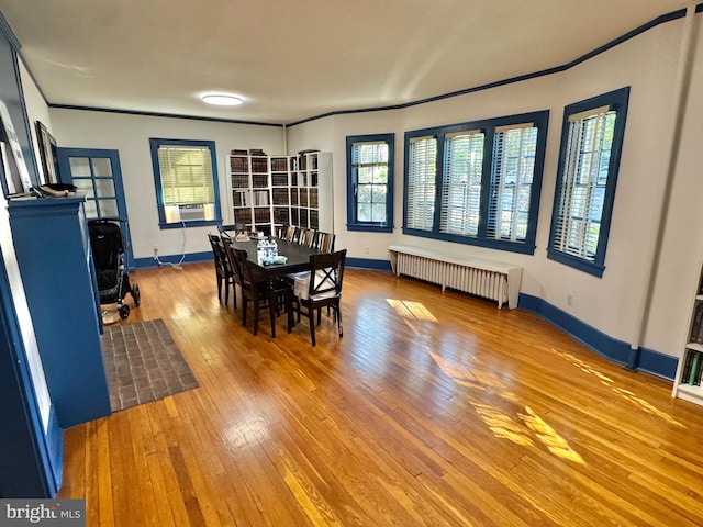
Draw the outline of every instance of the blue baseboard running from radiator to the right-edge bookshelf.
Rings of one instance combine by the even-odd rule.
[[[641,347],[633,350],[629,344],[605,335],[537,296],[520,293],[517,306],[539,315],[609,360],[669,380],[676,375],[679,362],[676,357]]]

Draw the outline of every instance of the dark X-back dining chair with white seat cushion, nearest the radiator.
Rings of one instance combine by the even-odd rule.
[[[347,249],[336,253],[323,253],[310,256],[311,271],[306,276],[298,276],[293,280],[291,307],[298,314],[308,317],[310,324],[310,339],[315,346],[315,312],[317,325],[322,322],[322,307],[332,309],[337,322],[337,333],[342,336],[342,280]],[[292,312],[290,313],[292,315]],[[288,333],[292,330],[292,316],[288,317]]]

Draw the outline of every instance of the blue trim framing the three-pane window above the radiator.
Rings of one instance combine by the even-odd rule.
[[[511,124],[534,123],[537,126],[537,146],[535,152],[535,172],[533,176],[532,193],[529,198],[529,220],[527,221],[527,233],[524,242],[510,242],[504,239],[495,239],[487,236],[488,213],[491,186],[491,168],[493,159],[493,135],[494,130],[500,126]],[[447,126],[438,126],[424,130],[415,130],[405,132],[405,166],[403,170],[404,181],[408,181],[410,158],[410,142],[414,137],[432,136],[437,139],[437,167],[436,167],[436,195],[435,195],[435,218],[432,231],[420,231],[409,228],[408,220],[408,186],[403,186],[403,234],[410,236],[419,236],[423,238],[440,239],[464,245],[476,245],[479,247],[488,247],[499,250],[507,250],[511,253],[521,253],[525,255],[534,255],[535,239],[537,235],[537,218],[539,217],[539,198],[542,194],[542,180],[545,165],[545,149],[547,145],[547,127],[549,124],[549,110],[538,112],[521,113],[515,115],[505,115],[502,117],[486,119],[480,121],[471,121],[467,123],[453,124]],[[444,137],[454,132],[468,130],[481,130],[486,134],[486,144],[483,148],[483,169],[481,176],[481,214],[479,220],[479,231],[477,236],[461,236],[456,234],[446,234],[439,232],[439,220],[442,215],[442,190],[443,190],[443,165],[444,165]]]

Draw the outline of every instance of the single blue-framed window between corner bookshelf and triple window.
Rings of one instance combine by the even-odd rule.
[[[347,137],[347,228],[393,231],[394,135]]]

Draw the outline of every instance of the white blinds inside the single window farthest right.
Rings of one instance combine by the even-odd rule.
[[[553,248],[588,261],[598,253],[615,119],[607,106],[569,119]]]

